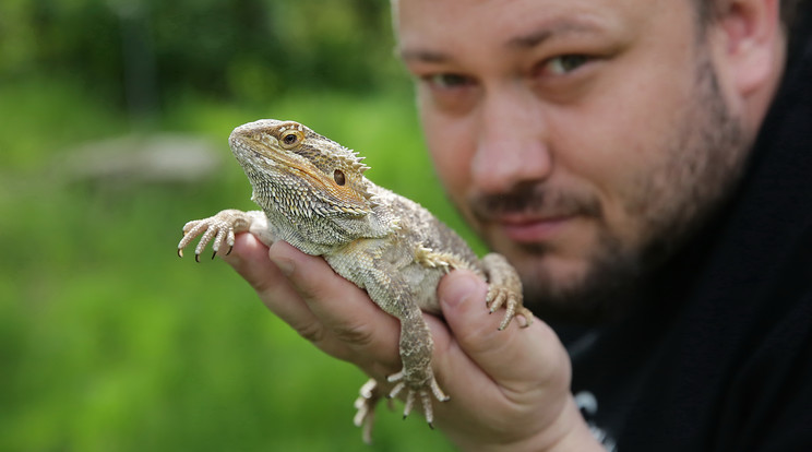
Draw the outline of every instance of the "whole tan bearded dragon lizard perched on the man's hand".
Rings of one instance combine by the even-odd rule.
[[[453,269],[467,269],[489,283],[491,312],[505,307],[500,330],[516,314],[533,314],[522,305],[522,284],[500,254],[483,259],[453,230],[419,204],[375,186],[353,151],[294,121],[263,119],[238,127],[229,136],[234,155],[253,187],[262,211],[222,211],[187,223],[178,243],[182,255],[195,237],[195,260],[212,242],[215,253],[234,246],[235,235],[250,231],[271,245],[285,240],[301,251],[322,255],[343,277],[363,288],[385,312],[401,321],[403,370],[390,376],[390,396],[406,391],[404,415],[419,397],[431,425],[431,395],[449,397],[431,370],[433,342],[421,311],[440,313],[437,286]],[[230,248],[229,248],[230,251]],[[355,421],[369,441],[374,406],[382,395],[374,380],[356,401]]]

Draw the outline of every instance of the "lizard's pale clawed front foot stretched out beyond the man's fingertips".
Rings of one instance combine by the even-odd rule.
[[[194,248],[194,260],[200,262],[200,254],[212,242],[214,253],[217,255],[220,247],[228,246],[226,254],[234,248],[235,234],[248,230],[249,222],[244,212],[237,210],[220,211],[214,216],[203,219],[194,219],[183,226],[183,238],[178,243],[178,255],[183,257],[186,248],[195,237],[201,236],[200,242]],[[214,240],[214,241],[213,241]]]

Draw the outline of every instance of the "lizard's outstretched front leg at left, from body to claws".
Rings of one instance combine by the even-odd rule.
[[[178,243],[178,255],[182,258],[183,248],[201,235],[200,242],[194,248],[195,261],[200,262],[200,254],[213,239],[212,249],[214,253],[212,259],[217,255],[217,251],[224,245],[228,246],[226,252],[228,254],[234,247],[235,235],[248,231],[255,235],[265,245],[271,245],[274,241],[273,235],[267,229],[267,218],[261,211],[242,212],[229,209],[208,218],[191,221],[183,226],[183,238]]]

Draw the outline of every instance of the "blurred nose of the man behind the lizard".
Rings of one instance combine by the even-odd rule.
[[[471,162],[477,189],[499,193],[547,179],[552,171],[547,127],[544,108],[532,92],[503,86],[487,93],[478,111]]]

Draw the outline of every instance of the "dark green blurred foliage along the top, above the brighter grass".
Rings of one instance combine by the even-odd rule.
[[[154,112],[178,92],[266,104],[290,86],[362,92],[396,71],[379,0],[7,0],[0,79],[56,72]]]

